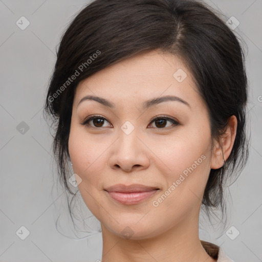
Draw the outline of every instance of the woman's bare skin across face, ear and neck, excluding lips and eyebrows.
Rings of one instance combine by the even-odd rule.
[[[187,74],[182,82],[173,77],[178,69]],[[94,100],[78,105],[86,95],[110,100],[115,108]],[[178,96],[190,106],[166,101],[142,108],[145,100],[166,95]],[[106,120],[82,125],[91,115]],[[160,115],[179,124],[150,121]],[[128,135],[121,129],[126,121],[135,128]],[[213,141],[213,149],[209,124],[207,108],[189,70],[178,57],[159,50],[123,60],[79,83],[69,153],[74,173],[80,178],[77,181],[83,201],[101,223],[102,262],[216,261],[200,243],[200,208],[210,169],[223,165],[223,155],[225,161],[228,158],[237,123],[232,116],[220,143]],[[164,201],[153,206],[152,202],[170,190],[201,156],[205,156],[202,163],[184,176]],[[138,204],[124,205],[104,191],[118,183],[139,183],[160,190]],[[126,227],[129,234],[124,235]]]

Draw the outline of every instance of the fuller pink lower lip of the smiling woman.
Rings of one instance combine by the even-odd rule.
[[[143,200],[151,197],[151,195],[154,195],[159,189],[150,190],[150,191],[144,191],[144,192],[108,192],[110,197],[121,204],[125,205],[131,205],[131,204],[137,204],[142,202]]]

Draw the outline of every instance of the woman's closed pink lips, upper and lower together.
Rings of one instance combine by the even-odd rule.
[[[160,189],[158,187],[141,184],[117,184],[104,189],[117,202],[125,205],[137,204],[151,197]]]

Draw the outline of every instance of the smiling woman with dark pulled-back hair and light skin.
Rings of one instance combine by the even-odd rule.
[[[102,262],[232,261],[200,241],[246,164],[239,42],[196,1],[96,0],[65,31],[46,111],[59,176],[101,223]],[[236,167],[238,170],[236,170]]]

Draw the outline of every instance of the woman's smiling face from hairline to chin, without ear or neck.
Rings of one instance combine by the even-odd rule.
[[[89,116],[96,119],[85,121]],[[213,161],[210,125],[190,72],[175,56],[150,51],[81,81],[69,153],[83,201],[102,229],[142,239],[198,226]]]

